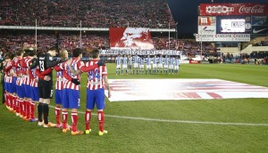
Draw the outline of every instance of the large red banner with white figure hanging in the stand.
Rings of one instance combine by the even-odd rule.
[[[112,49],[155,49],[149,28],[109,28]]]

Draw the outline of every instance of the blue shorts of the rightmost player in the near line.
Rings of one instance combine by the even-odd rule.
[[[105,89],[87,89],[87,109],[105,109]]]

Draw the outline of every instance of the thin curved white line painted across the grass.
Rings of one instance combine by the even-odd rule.
[[[49,106],[54,108],[54,106]],[[80,114],[85,114],[85,112],[78,111]],[[96,116],[96,113],[92,113]],[[168,123],[182,123],[182,124],[199,124],[199,125],[242,125],[242,126],[268,126],[268,124],[248,124],[248,123],[224,123],[224,122],[205,122],[205,121],[184,121],[184,120],[169,120],[169,119],[155,119],[155,118],[144,118],[144,117],[121,117],[106,115],[105,117],[114,117],[122,119],[132,119],[132,120],[143,120],[143,121],[155,121],[155,122],[168,122]]]

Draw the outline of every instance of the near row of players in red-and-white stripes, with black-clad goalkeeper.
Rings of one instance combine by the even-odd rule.
[[[38,122],[40,126],[62,128],[63,133],[71,130],[72,135],[83,134],[84,131],[77,128],[78,109],[80,109],[80,75],[87,72],[85,133],[91,132],[89,123],[91,111],[95,106],[99,125],[98,134],[108,133],[104,128],[105,87],[108,90],[108,97],[111,97],[111,90],[105,63],[99,61],[99,51],[93,50],[92,60],[85,63],[81,60],[80,48],[72,51],[71,60],[68,60],[66,50],[62,49],[59,53],[61,58],[57,60],[53,60],[57,54],[56,47],[51,47],[47,52],[38,52],[38,55],[33,50],[19,50],[15,54],[10,52],[5,55],[6,108],[26,121]],[[53,69],[56,71],[55,124],[48,121],[48,105],[53,96]],[[35,101],[38,101],[38,118],[35,117]],[[68,109],[71,109],[71,125],[67,124]]]

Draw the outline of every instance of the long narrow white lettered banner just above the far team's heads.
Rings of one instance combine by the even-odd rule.
[[[181,51],[175,51],[175,50],[100,50],[100,54],[102,55],[118,55],[118,54],[131,54],[131,55],[157,55],[157,54],[163,54],[163,55],[181,55]]]

